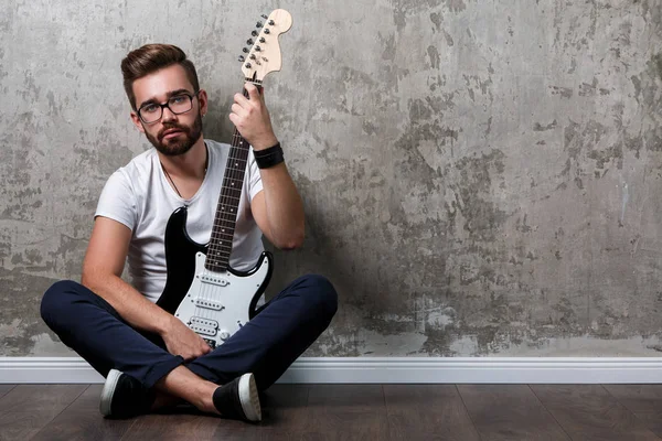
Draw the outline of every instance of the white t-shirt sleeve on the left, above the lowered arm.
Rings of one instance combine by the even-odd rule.
[[[106,182],[94,217],[108,217],[134,230],[138,217],[136,205],[134,187],[127,175],[118,170]]]

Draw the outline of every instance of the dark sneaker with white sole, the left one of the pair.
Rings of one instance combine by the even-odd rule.
[[[154,394],[130,375],[110,369],[102,390],[99,411],[108,418],[149,413]]]

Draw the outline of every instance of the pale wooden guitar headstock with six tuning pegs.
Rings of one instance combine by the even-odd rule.
[[[267,74],[280,71],[278,36],[292,26],[292,15],[285,9],[276,9],[263,19],[247,41],[250,49],[244,47],[244,55],[239,56],[244,77],[253,82],[261,82]]]

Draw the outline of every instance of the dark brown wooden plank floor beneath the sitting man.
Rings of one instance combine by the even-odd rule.
[[[260,424],[106,420],[100,385],[0,385],[0,440],[662,440],[662,385],[276,385]]]

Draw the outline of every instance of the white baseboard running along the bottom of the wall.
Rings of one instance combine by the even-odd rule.
[[[0,357],[0,384],[103,383],[77,357]],[[652,384],[662,358],[299,358],[278,383]]]

